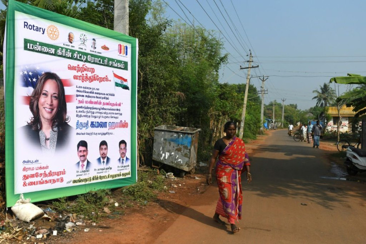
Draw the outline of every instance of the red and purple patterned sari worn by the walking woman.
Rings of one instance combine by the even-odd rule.
[[[230,224],[242,219],[241,173],[246,170],[247,165],[250,165],[250,162],[244,141],[234,136],[219,154],[216,163],[216,179],[220,194],[216,213],[227,218]]]

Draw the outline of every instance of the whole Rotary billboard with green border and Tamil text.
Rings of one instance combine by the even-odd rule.
[[[9,1],[6,206],[137,180],[136,38]]]

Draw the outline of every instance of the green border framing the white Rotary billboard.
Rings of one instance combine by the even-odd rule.
[[[38,18],[50,20],[80,30],[88,31],[107,38],[123,41],[131,45],[131,177],[109,181],[82,184],[77,186],[24,193],[32,202],[84,194],[91,190],[123,187],[137,181],[137,53],[138,40],[134,37],[102,28],[78,19],[67,17],[45,9],[34,7],[14,0],[8,1],[4,45],[4,85],[5,85],[5,191],[6,206],[10,207],[19,199],[14,194],[14,155],[21,148],[14,148],[14,69],[15,69],[15,12],[22,12]],[[17,150],[18,149],[18,150]]]

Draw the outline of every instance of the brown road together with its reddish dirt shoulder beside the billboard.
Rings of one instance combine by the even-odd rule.
[[[212,221],[218,190],[205,184],[203,168],[202,174],[174,179],[178,187],[169,191],[175,193],[160,193],[147,206],[49,243],[365,243],[366,184],[339,180],[344,167],[329,160],[335,146],[321,141],[319,149],[312,148],[286,130],[267,133],[246,145],[253,182],[243,182],[240,232],[233,235],[229,225]],[[365,182],[366,173],[351,179]]]

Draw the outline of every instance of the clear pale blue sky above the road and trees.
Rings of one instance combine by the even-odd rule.
[[[166,17],[214,30],[229,54],[220,83],[246,83],[250,50],[250,83],[261,90],[265,104],[274,100],[314,107],[324,83],[347,73],[366,76],[364,0],[162,0]],[[201,27],[202,27],[201,26]],[[331,84],[342,94],[349,86]]]

